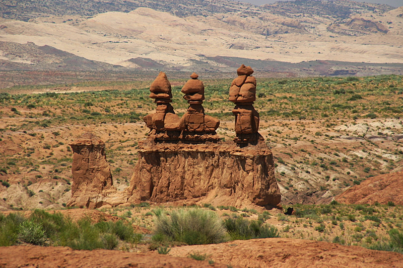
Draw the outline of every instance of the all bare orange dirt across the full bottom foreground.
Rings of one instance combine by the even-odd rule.
[[[206,254],[204,261],[186,258]],[[16,256],[19,256],[16,258]],[[403,267],[401,254],[299,239],[267,238],[172,248],[169,255],[67,247],[0,247],[2,267]],[[239,266],[236,266],[238,264]]]

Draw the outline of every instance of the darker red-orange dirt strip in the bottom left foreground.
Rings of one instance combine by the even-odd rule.
[[[16,257],[19,256],[19,257]],[[73,250],[69,247],[10,246],[0,247],[1,267],[227,267],[209,265],[185,257],[158,253],[129,253],[114,250]],[[235,267],[235,266],[233,266]],[[238,266],[239,267],[239,266]]]

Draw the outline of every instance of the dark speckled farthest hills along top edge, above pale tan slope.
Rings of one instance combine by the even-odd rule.
[[[209,16],[216,13],[242,12],[259,14],[272,12],[284,16],[303,13],[317,16],[328,16],[334,19],[346,19],[351,14],[363,12],[384,13],[393,7],[381,4],[360,3],[354,1],[317,1],[297,0],[277,2],[261,7],[248,3],[226,0],[114,0],[80,1],[80,0],[4,0],[0,3],[2,18],[28,21],[31,18],[44,16],[95,16],[106,12],[128,13],[137,8],[150,8],[156,11],[169,12],[178,17]]]

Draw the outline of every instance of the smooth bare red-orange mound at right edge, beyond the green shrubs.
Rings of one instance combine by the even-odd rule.
[[[369,177],[335,198],[343,204],[403,205],[403,171]]]

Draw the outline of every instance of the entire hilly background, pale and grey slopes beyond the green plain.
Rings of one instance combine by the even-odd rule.
[[[402,73],[403,7],[5,0],[0,15],[3,70],[215,72],[250,62],[281,76]]]

